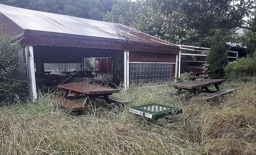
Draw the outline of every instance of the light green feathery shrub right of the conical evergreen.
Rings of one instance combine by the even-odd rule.
[[[225,67],[227,76],[247,77],[256,74],[256,52],[246,58],[239,59],[238,62],[230,62]]]

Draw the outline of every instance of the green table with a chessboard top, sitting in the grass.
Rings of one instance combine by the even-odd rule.
[[[129,108],[129,112],[132,112],[137,115],[141,115],[156,121],[157,119],[163,118],[165,116],[180,114],[182,113],[182,109],[153,103],[148,105],[131,107]]]

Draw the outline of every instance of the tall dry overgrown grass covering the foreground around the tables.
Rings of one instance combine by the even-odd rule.
[[[237,92],[215,103],[170,95],[167,86],[122,90],[132,105],[183,109],[172,121],[147,121],[128,106],[83,116],[59,109],[52,96],[0,108],[1,154],[256,154],[256,82],[227,82]]]

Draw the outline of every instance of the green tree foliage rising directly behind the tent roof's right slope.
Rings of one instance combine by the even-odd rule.
[[[120,0],[106,13],[104,21],[125,24],[144,33],[175,44],[210,47],[216,28],[203,31],[194,27],[184,13],[165,16],[155,0]],[[233,42],[234,28],[218,28],[226,42]]]

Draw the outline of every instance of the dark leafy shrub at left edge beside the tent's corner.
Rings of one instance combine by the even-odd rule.
[[[20,64],[20,44],[5,33],[4,24],[0,26],[0,100],[6,100],[22,85],[17,79],[24,73],[24,67]]]

